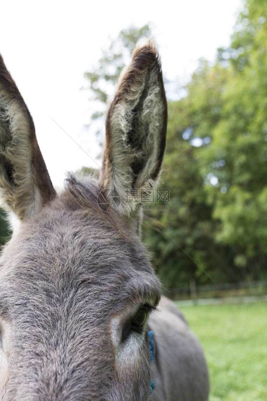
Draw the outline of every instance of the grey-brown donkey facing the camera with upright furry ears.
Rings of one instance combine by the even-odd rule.
[[[1,401],[207,400],[201,346],[171,301],[157,308],[161,284],[140,240],[142,200],[126,196],[157,185],[166,127],[149,39],[120,77],[102,169],[69,174],[56,194],[0,57],[0,187],[16,221],[0,259]]]

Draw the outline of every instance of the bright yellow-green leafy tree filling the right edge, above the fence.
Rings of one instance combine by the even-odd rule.
[[[249,0],[239,16],[230,49],[231,75],[223,87],[220,120],[204,160],[213,218],[221,221],[217,241],[235,247],[242,277],[266,277],[267,255],[267,21],[265,3]],[[228,56],[228,57],[227,57]],[[202,155],[201,155],[202,156]],[[218,169],[219,160],[223,160]],[[222,193],[223,192],[223,193]]]

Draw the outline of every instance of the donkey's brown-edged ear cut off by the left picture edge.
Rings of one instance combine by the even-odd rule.
[[[0,196],[24,219],[55,194],[32,117],[0,55]]]

